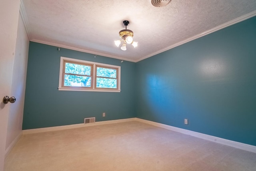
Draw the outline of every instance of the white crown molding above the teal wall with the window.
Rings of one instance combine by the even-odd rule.
[[[52,43],[52,42],[46,42],[46,41],[41,41],[41,40],[36,40],[36,39],[32,39],[30,40],[31,42],[36,42],[36,43],[41,43],[41,44],[47,44],[47,45],[51,45],[51,46],[56,46],[56,47],[60,47],[60,48],[66,48],[66,49],[70,49],[70,50],[76,50],[76,51],[80,51],[80,52],[86,52],[89,54],[93,54],[93,55],[99,55],[99,56],[105,56],[105,57],[109,57],[109,58],[115,58],[118,60],[125,60],[125,61],[130,61],[130,62],[135,62],[134,60],[128,60],[126,58],[120,58],[120,57],[116,57],[116,56],[112,56],[109,54],[103,54],[103,53],[99,53],[99,52],[93,52],[90,50],[84,50],[82,48],[75,48],[72,46],[66,46],[66,45],[62,45],[62,44],[56,44],[56,43]]]

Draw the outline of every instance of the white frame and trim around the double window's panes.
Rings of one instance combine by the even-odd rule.
[[[62,87],[62,79],[63,79],[63,63],[64,61],[76,62],[81,64],[90,64],[92,65],[92,88],[82,88],[82,87]],[[117,89],[110,88],[96,88],[96,66],[102,66],[106,68],[113,68],[117,70]],[[95,80],[95,81],[94,81]],[[60,91],[103,91],[103,92],[120,92],[121,91],[121,67],[114,66],[109,64],[102,64],[97,62],[90,62],[84,60],[78,60],[73,58],[60,57],[60,76],[59,76],[59,87]]]

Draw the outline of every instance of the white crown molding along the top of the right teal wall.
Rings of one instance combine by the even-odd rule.
[[[144,58],[140,58],[139,60],[136,60],[135,62],[139,62],[139,61],[144,60],[144,59],[146,59],[146,58],[149,58],[149,57],[151,57],[151,56],[160,54],[160,53],[162,53],[162,52],[165,52],[166,50],[170,50],[170,49],[172,49],[172,48],[175,48],[175,47],[177,47],[177,46],[180,46],[180,45],[182,45],[182,44],[185,44],[185,43],[187,43],[187,42],[190,42],[190,41],[192,41],[192,40],[195,40],[195,39],[197,39],[197,38],[200,38],[200,37],[202,37],[202,36],[205,36],[205,35],[207,35],[207,34],[210,34],[210,33],[216,32],[216,31],[218,31],[218,30],[221,30],[222,28],[226,28],[226,27],[231,26],[231,25],[233,25],[233,24],[236,24],[236,23],[238,23],[238,22],[242,22],[242,21],[244,21],[244,20],[247,20],[247,19],[249,19],[249,18],[252,18],[252,17],[254,17],[254,16],[256,16],[256,10],[253,11],[253,12],[250,12],[250,13],[244,15],[244,16],[238,17],[238,18],[236,18],[236,19],[234,19],[234,20],[231,20],[231,21],[229,21],[229,22],[226,22],[226,23],[224,23],[224,24],[221,24],[221,25],[219,25],[219,26],[217,26],[217,27],[214,27],[214,28],[212,28],[212,29],[210,29],[210,30],[207,30],[207,31],[205,31],[205,32],[202,32],[202,33],[200,33],[200,34],[197,34],[197,35],[195,35],[195,36],[192,36],[192,37],[190,37],[190,38],[188,38],[188,39],[186,39],[186,40],[183,40],[183,41],[181,41],[181,42],[178,42],[178,43],[176,43],[176,44],[173,44],[173,45],[171,45],[171,46],[168,46],[167,48],[164,48],[164,49],[162,49],[162,50],[159,50],[159,51],[157,51],[157,52],[155,52],[155,53],[153,53],[153,54],[150,54],[149,56],[146,56],[146,57],[144,57]]]

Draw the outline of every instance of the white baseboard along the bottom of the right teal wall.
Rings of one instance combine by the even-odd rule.
[[[140,118],[135,118],[135,121],[148,123],[150,125],[154,125],[154,126],[157,126],[157,127],[162,127],[162,128],[169,129],[169,130],[172,130],[172,131],[176,131],[176,132],[184,133],[184,134],[187,134],[187,135],[191,135],[193,137],[206,139],[208,141],[213,141],[213,142],[216,142],[216,143],[221,143],[221,144],[224,144],[224,145],[228,145],[228,146],[231,146],[231,147],[235,147],[235,148],[238,148],[238,149],[243,149],[243,150],[246,150],[246,151],[256,153],[256,146],[254,146],[254,145],[249,145],[249,144],[245,144],[245,143],[231,141],[231,140],[220,138],[220,137],[214,137],[212,135],[207,135],[207,134],[204,134],[204,133],[198,133],[198,132],[190,131],[190,130],[187,130],[187,129],[173,127],[173,126],[170,126],[170,125],[165,125],[165,124],[162,124],[162,123],[148,121],[148,120],[144,120],[144,119],[140,119]]]

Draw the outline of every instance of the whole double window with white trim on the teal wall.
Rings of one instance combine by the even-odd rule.
[[[120,66],[60,58],[59,90],[120,92]]]

